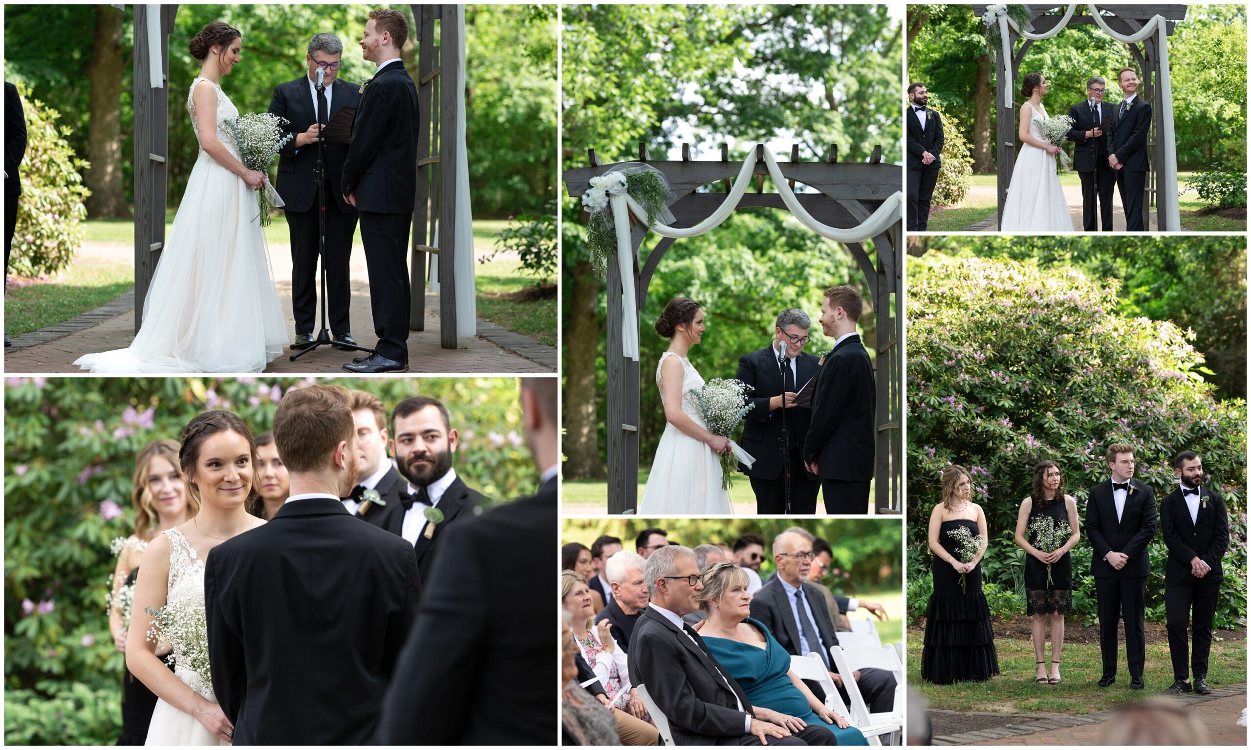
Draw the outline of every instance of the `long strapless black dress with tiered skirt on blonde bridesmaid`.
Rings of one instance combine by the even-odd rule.
[[[948,555],[956,554],[956,540],[947,535],[958,526],[967,526],[977,534],[977,521],[956,519],[938,526],[938,544]],[[957,558],[958,560],[958,558]],[[1000,674],[1000,660],[995,652],[995,630],[991,629],[991,609],[982,594],[982,565],[965,575],[965,589],[960,586],[960,574],[950,562],[934,558],[934,591],[926,608],[926,641],[921,651],[921,679],[948,685],[951,682],[985,681]]]

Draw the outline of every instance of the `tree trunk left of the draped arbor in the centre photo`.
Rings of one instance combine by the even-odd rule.
[[[599,279],[589,261],[573,266],[569,326],[564,336],[564,478],[603,479],[595,394]]]

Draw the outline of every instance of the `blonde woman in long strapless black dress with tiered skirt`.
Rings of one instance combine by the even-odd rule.
[[[981,682],[1000,674],[991,609],[982,594],[986,514],[970,499],[972,490],[967,470],[947,466],[942,478],[942,502],[929,514],[934,590],[926,608],[926,640],[921,651],[921,679],[929,682]],[[981,539],[981,550],[970,562],[960,561],[958,542],[948,534],[960,528]],[[965,575],[963,586],[961,574]]]

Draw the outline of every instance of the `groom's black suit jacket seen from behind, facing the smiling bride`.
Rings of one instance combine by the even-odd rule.
[[[216,546],[204,570],[209,661],[235,744],[365,742],[420,592],[404,540],[338,498],[288,502]]]

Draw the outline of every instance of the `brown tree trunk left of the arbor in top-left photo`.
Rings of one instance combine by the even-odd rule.
[[[86,211],[93,219],[128,219],[121,188],[121,18],[111,5],[95,6],[95,41],[88,68],[86,158],[84,180],[91,195]],[[145,155],[146,156],[146,155]]]

